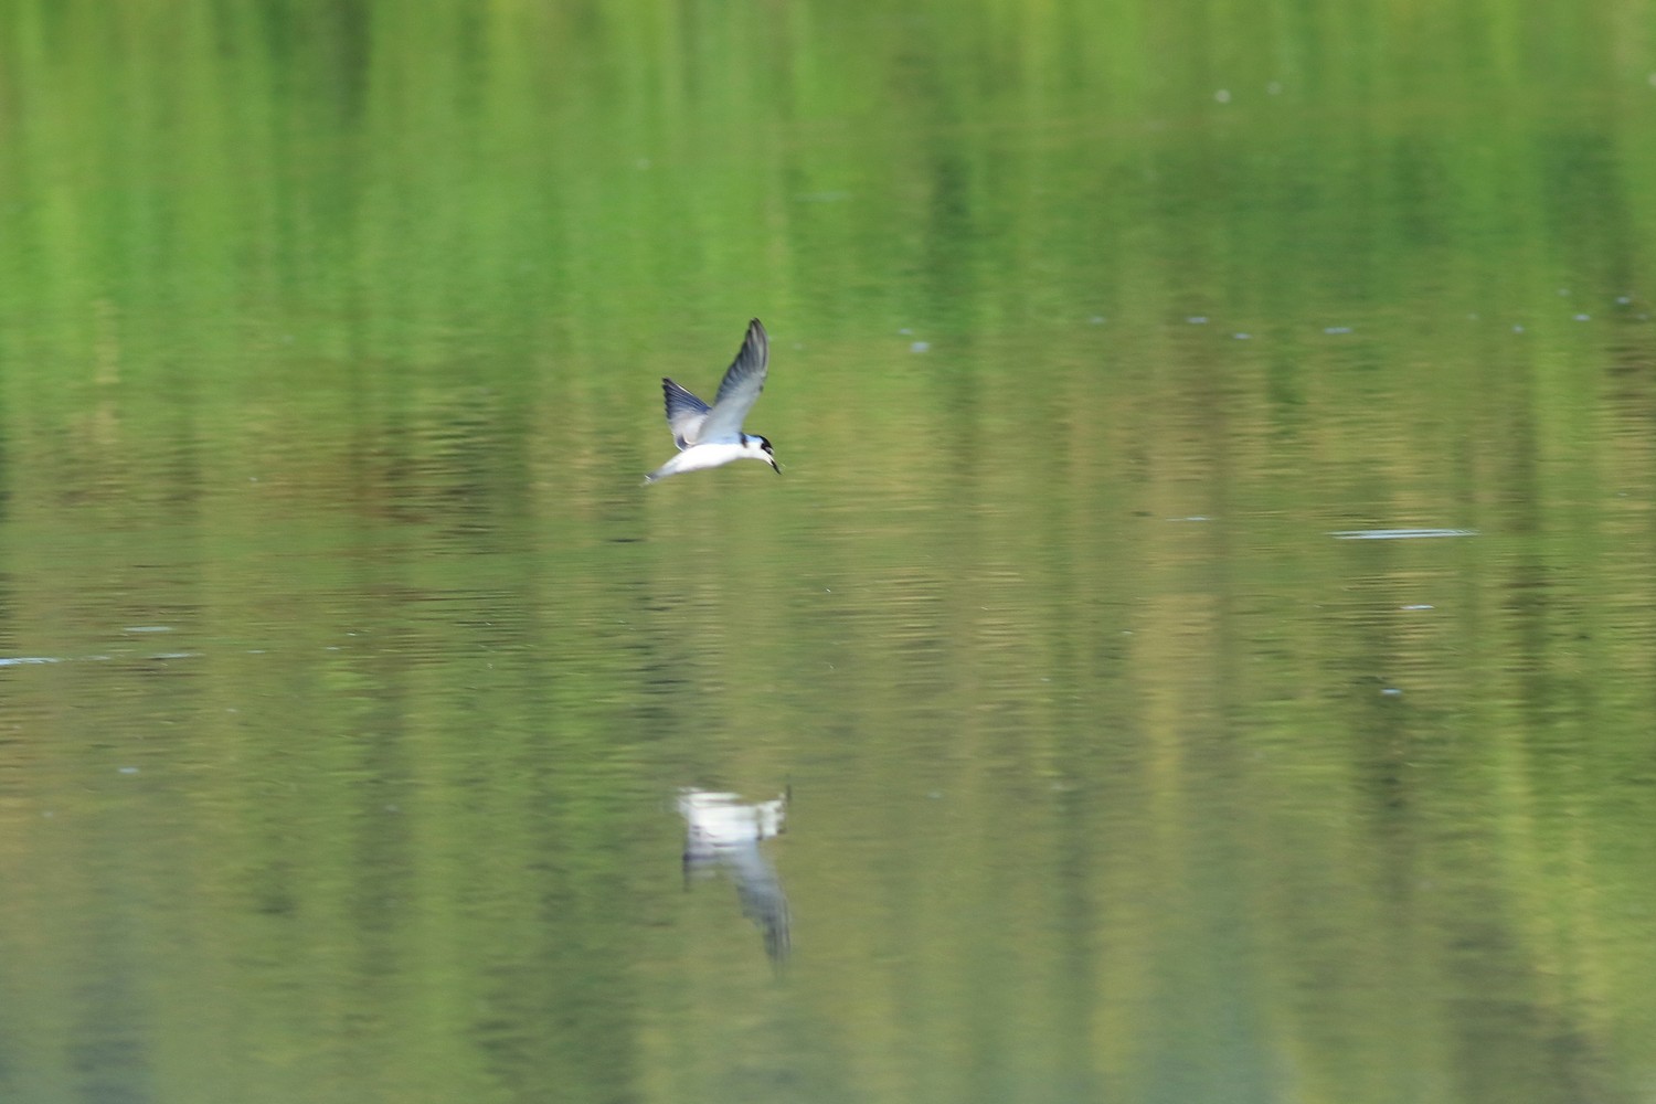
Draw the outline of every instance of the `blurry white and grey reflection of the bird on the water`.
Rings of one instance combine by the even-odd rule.
[[[788,899],[777,881],[777,867],[758,844],[783,833],[788,798],[790,791],[783,791],[772,801],[749,804],[735,793],[679,791],[679,813],[687,828],[684,887],[689,889],[691,876],[705,877],[720,864],[730,871],[742,915],[758,925],[765,953],[778,967],[788,957]]]

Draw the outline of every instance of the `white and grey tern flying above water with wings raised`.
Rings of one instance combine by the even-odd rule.
[[[755,318],[747,324],[747,339],[725,371],[712,406],[664,377],[661,392],[667,402],[667,429],[672,430],[672,444],[679,447],[679,455],[646,475],[644,482],[654,483],[679,472],[715,468],[732,460],[763,460],[782,475],[782,467],[770,452],[770,442],[758,434],[742,432],[742,419],[758,402],[768,371],[770,341]]]

